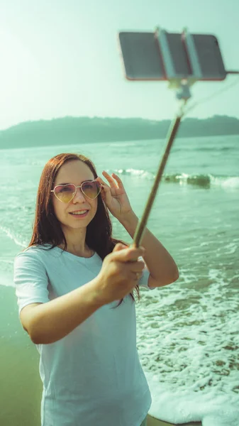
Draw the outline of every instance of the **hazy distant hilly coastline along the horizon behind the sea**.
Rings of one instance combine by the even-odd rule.
[[[0,131],[0,148],[30,148],[102,142],[165,138],[170,120],[72,117],[26,121]],[[239,119],[212,116],[184,119],[178,137],[239,135]]]

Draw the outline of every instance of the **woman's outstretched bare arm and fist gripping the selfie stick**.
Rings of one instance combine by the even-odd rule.
[[[70,334],[100,307],[132,292],[143,271],[142,247],[116,244],[104,258],[101,271],[89,283],[45,303],[30,303],[20,313],[23,328],[35,344],[50,344]],[[22,274],[24,276],[24,274]],[[21,290],[18,290],[20,293]]]

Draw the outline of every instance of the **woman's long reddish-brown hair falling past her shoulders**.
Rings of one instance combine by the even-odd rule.
[[[35,208],[33,235],[28,247],[38,244],[41,246],[44,246],[44,244],[50,244],[51,246],[48,249],[54,249],[54,247],[63,244],[64,250],[67,249],[67,241],[62,231],[60,222],[55,216],[52,203],[52,192],[50,191],[54,188],[58,171],[63,164],[70,160],[82,161],[82,163],[88,165],[95,179],[98,176],[94,163],[92,163],[89,158],[82,154],[62,153],[55,155],[55,157],[52,157],[50,160],[48,160],[48,163],[46,163],[45,167],[43,168],[43,173],[40,176]],[[109,217],[109,212],[101,198],[101,194],[99,194],[97,201],[98,203],[96,214],[87,226],[86,243],[90,249],[96,251],[96,253],[103,261],[107,254],[113,251],[113,248],[117,243],[126,243],[112,238],[111,219]],[[127,245],[128,244],[126,244],[126,246]],[[135,291],[138,300],[140,300],[138,285],[136,285]],[[130,293],[130,296],[135,301],[133,293]],[[121,305],[122,301],[123,299],[119,302],[118,305]]]

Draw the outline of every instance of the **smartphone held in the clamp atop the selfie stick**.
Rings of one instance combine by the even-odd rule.
[[[187,43],[181,33],[167,33],[167,50],[174,67],[175,78],[192,77],[192,66]],[[157,33],[120,32],[119,44],[128,80],[170,80]],[[191,34],[201,81],[221,81],[227,72],[217,38],[211,34]]]

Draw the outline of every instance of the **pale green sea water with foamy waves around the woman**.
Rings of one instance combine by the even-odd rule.
[[[40,173],[53,155],[84,153],[118,173],[143,213],[165,141],[87,143],[0,151],[0,285],[28,245]],[[138,351],[152,392],[150,413],[169,422],[239,425],[239,136],[174,142],[149,229],[179,267],[177,283],[142,290]],[[113,234],[130,242],[113,218]]]

